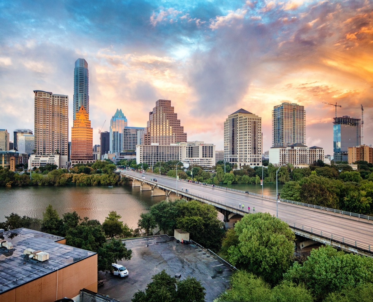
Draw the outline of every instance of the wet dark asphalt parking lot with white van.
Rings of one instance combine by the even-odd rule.
[[[190,275],[201,281],[206,289],[206,301],[213,301],[229,286],[232,271],[195,245],[176,243],[168,236],[131,239],[125,243],[132,249],[132,258],[119,263],[128,269],[128,277],[99,272],[98,279],[103,280],[104,285],[98,287],[98,293],[102,295],[131,301],[134,293],[144,291],[151,277],[162,270],[171,276],[181,274],[180,280]]]

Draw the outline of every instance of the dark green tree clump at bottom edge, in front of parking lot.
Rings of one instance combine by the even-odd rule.
[[[132,302],[203,302],[205,288],[194,277],[187,276],[177,283],[165,270],[154,275],[145,292],[139,290]]]

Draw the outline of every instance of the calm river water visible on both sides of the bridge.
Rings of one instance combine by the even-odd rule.
[[[228,187],[261,194],[260,185],[232,184]],[[278,187],[279,192],[282,186]],[[264,185],[264,195],[276,195],[276,185]],[[0,188],[0,221],[16,213],[42,218],[48,204],[62,217],[76,211],[81,218],[97,219],[101,223],[110,211],[121,215],[121,221],[130,228],[137,228],[140,214],[164,200],[164,196],[150,196],[150,191],[129,185],[119,187],[20,187]]]

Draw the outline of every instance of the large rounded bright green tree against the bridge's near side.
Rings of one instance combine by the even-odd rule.
[[[295,235],[286,222],[269,213],[245,215],[234,227],[238,245],[228,249],[233,265],[261,275],[276,284],[290,267]]]

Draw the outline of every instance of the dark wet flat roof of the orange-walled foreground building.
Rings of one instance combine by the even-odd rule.
[[[11,233],[18,235],[9,239]],[[3,236],[12,242],[14,250],[0,248],[0,294],[96,254],[56,242],[64,237],[28,228],[6,231]],[[23,251],[30,248],[49,253],[49,259],[34,262],[23,258]]]

